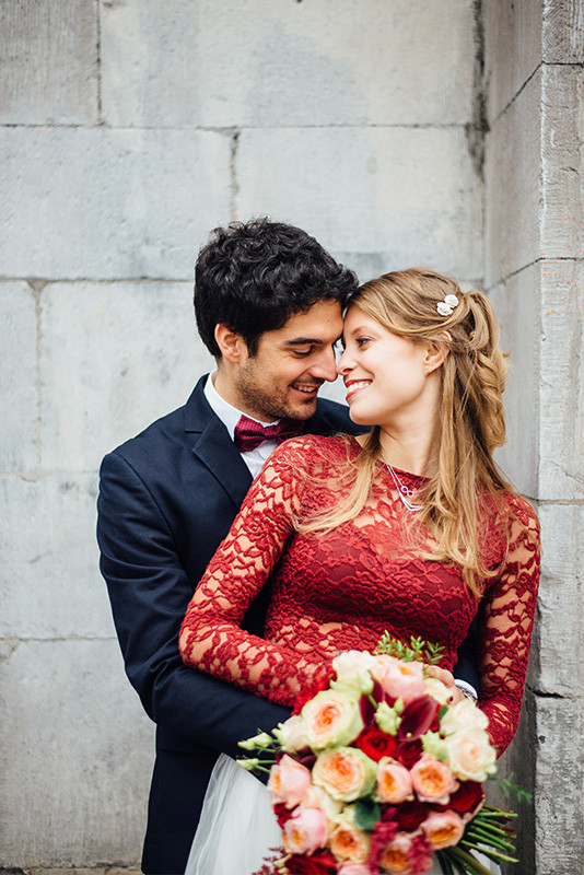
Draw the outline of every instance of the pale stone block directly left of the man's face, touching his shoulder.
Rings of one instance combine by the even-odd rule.
[[[191,282],[45,288],[45,468],[94,471],[107,451],[186,401],[213,362],[196,332],[191,301]]]

